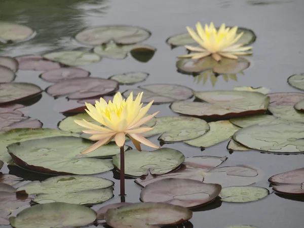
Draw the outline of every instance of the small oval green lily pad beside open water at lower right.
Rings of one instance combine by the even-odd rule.
[[[263,199],[269,195],[267,188],[257,186],[223,187],[219,196],[221,201],[232,203],[247,203]]]

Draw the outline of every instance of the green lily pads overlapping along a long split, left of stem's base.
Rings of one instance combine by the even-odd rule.
[[[29,182],[19,187],[16,193],[36,194],[32,201],[39,204],[63,202],[91,205],[111,199],[113,184],[110,180],[94,176],[56,176],[42,182]]]

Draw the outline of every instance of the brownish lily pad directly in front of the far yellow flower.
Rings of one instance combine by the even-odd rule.
[[[198,74],[205,70],[212,70],[217,74],[235,74],[247,69],[249,65],[250,62],[244,58],[223,58],[220,62],[217,62],[211,56],[198,60],[182,58],[176,62],[178,71],[186,74]]]

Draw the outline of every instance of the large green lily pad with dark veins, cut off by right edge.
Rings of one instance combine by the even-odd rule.
[[[304,151],[304,124],[253,125],[237,131],[233,139],[246,147],[273,153]]]

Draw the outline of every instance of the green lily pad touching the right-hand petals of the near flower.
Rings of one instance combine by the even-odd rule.
[[[154,129],[143,133],[144,137],[162,134],[158,140],[178,142],[194,139],[209,131],[206,121],[193,117],[159,117]]]

